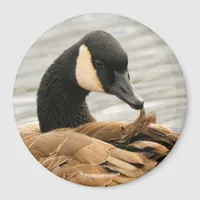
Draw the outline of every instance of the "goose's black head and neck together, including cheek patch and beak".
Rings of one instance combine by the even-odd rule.
[[[65,50],[43,75],[37,92],[41,132],[94,120],[86,96],[112,94],[134,109],[143,100],[130,83],[127,54],[109,33],[93,31]]]

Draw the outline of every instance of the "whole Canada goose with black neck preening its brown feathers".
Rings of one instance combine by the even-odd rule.
[[[93,31],[47,69],[37,93],[38,123],[19,127],[26,146],[47,169],[71,182],[111,186],[154,168],[178,134],[145,115],[130,84],[127,54],[109,33]],[[90,91],[113,94],[141,110],[133,123],[96,122],[85,102]]]

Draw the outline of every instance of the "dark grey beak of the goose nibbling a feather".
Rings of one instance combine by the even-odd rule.
[[[141,110],[143,108],[144,101],[133,89],[127,75],[115,72],[115,83],[111,86],[109,92],[133,109]]]

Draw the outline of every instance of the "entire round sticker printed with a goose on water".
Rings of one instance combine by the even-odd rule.
[[[167,44],[123,16],[63,21],[29,49],[14,86],[25,145],[57,176],[115,186],[156,167],[186,115],[186,87]]]

